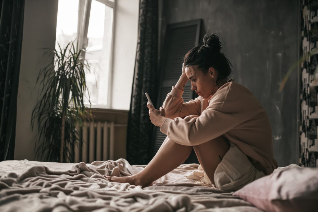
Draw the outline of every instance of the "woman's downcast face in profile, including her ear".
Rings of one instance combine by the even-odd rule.
[[[185,67],[185,74],[191,82],[191,90],[204,99],[218,90],[215,82],[217,72],[213,68],[209,68],[209,71],[204,73],[197,68],[197,65],[190,65]]]

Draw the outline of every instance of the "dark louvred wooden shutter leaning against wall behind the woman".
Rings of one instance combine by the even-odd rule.
[[[162,57],[161,79],[159,82],[159,93],[156,108],[162,106],[167,94],[171,91],[172,86],[176,85],[180,75],[182,74],[182,63],[184,55],[199,43],[199,35],[201,28],[201,19],[187,21],[177,24],[168,24],[166,38],[164,42],[164,50]],[[193,99],[194,92],[191,91],[191,85],[188,81],[184,87],[183,93],[184,102]],[[152,156],[159,150],[162,142],[167,136],[160,132],[160,127],[154,129],[154,139],[152,145]],[[191,158],[195,157],[194,161],[198,162],[194,151],[191,153]],[[189,158],[190,158],[189,157]]]

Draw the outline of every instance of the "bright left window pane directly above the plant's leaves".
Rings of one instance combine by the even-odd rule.
[[[77,37],[77,18],[78,18],[79,0],[59,1],[58,17],[56,23],[55,49],[66,47]]]

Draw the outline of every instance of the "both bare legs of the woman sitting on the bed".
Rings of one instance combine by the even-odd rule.
[[[121,183],[129,182],[142,187],[152,185],[153,181],[181,165],[189,157],[193,148],[202,168],[214,184],[214,172],[221,162],[220,157],[224,157],[229,147],[222,137],[194,147],[183,146],[167,137],[155,157],[141,172],[128,177],[109,177],[108,179]]]

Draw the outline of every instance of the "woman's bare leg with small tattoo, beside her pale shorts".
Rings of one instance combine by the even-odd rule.
[[[214,172],[230,145],[220,136],[203,144],[193,146],[198,161],[210,181],[214,184]]]

